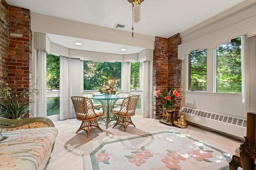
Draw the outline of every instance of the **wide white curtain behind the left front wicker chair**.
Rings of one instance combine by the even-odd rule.
[[[81,96],[83,80],[83,62],[60,56],[60,120],[76,117],[70,97]]]

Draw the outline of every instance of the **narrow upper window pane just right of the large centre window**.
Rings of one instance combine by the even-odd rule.
[[[140,89],[140,63],[131,64],[131,89]]]

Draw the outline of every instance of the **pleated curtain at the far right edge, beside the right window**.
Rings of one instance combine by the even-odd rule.
[[[242,96],[244,111],[247,113],[256,112],[256,35],[244,37],[245,41],[242,43],[245,47],[242,52]]]

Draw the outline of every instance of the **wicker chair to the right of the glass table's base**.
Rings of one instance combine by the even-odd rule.
[[[115,103],[112,105],[111,113],[117,116],[116,124],[113,126],[113,128],[117,125],[122,125],[124,127],[124,131],[126,132],[126,127],[128,125],[133,125],[135,127],[131,117],[135,115],[139,98],[140,95],[129,96],[124,98],[122,104]]]

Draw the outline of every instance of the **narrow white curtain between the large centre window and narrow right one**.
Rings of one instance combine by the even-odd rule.
[[[130,92],[131,84],[131,62],[122,63],[122,90],[123,92]]]

